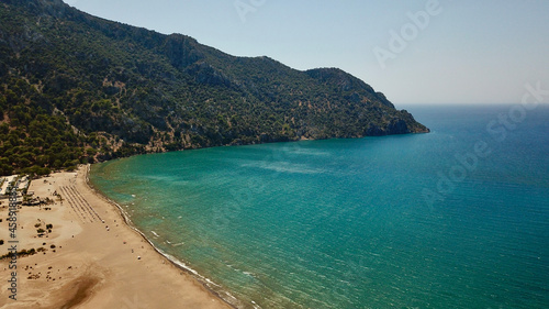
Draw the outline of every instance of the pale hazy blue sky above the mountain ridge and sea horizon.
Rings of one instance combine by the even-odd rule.
[[[399,104],[515,103],[549,90],[547,0],[64,0],[236,56],[338,67]]]

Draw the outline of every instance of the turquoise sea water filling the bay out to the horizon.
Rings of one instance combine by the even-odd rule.
[[[410,111],[433,132],[143,155],[91,180],[242,308],[549,308],[549,108]]]

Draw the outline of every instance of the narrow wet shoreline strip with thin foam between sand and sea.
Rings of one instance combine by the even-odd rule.
[[[117,211],[120,212],[120,216],[124,220],[124,224],[126,224],[130,229],[138,233],[159,255],[161,255],[164,258],[169,261],[173,266],[178,267],[181,271],[184,271],[187,274],[192,276],[194,279],[197,279],[202,286],[204,286],[205,289],[208,289],[211,294],[213,294],[215,297],[220,298],[223,300],[226,305],[231,306],[233,309],[238,309],[238,307],[235,304],[229,302],[227,299],[225,299],[222,295],[220,295],[219,291],[214,290],[209,286],[209,284],[219,286],[217,284],[213,283],[212,280],[208,279],[206,277],[202,276],[199,272],[194,271],[193,268],[187,266],[187,264],[177,257],[161,251],[159,247],[157,247],[153,241],[150,241],[145,233],[143,233],[135,224],[132,222],[132,219],[130,216],[124,211],[124,209],[114,200],[110,199],[107,195],[104,195],[101,190],[96,188],[93,184],[91,183],[89,178],[89,174],[91,172],[91,165],[88,164],[86,165],[85,168],[85,181],[86,185],[88,186],[89,190],[92,191],[94,195],[97,195],[99,198],[103,199],[105,202],[110,203],[111,206],[115,207]],[[228,297],[233,298],[235,301],[238,301],[236,297],[233,295],[228,294],[225,291]]]

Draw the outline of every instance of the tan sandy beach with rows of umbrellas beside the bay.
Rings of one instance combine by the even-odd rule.
[[[41,252],[19,256],[16,269],[9,258],[0,262],[0,308],[231,308],[125,224],[119,209],[88,186],[87,169],[31,183],[34,196],[55,203],[18,212],[18,251]],[[8,202],[0,206],[0,255],[10,245]],[[8,282],[14,271],[16,300]]]

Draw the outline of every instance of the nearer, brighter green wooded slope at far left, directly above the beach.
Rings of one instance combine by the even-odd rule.
[[[0,80],[4,89],[0,110],[8,120],[0,123],[0,175],[47,175],[89,161],[85,136],[75,133],[64,117],[44,110],[31,86],[15,78]]]

